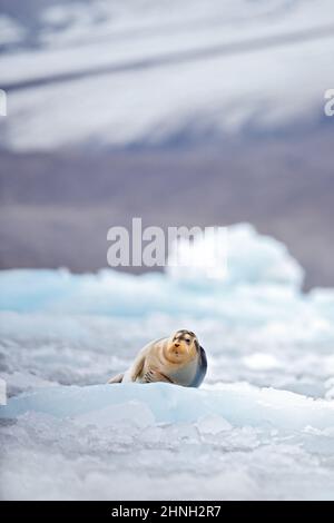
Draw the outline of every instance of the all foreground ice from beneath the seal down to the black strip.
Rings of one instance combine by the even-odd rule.
[[[333,497],[324,399],[239,384],[70,386],[12,398],[1,418],[7,499]]]

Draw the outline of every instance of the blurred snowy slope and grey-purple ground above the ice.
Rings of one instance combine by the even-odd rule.
[[[0,0],[0,268],[249,221],[334,286],[331,0]]]

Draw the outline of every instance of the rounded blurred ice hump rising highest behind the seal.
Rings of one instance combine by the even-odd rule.
[[[227,267],[225,272],[217,272],[217,277],[210,278],[208,275],[213,273],[213,267],[209,262],[215,260],[219,254],[215,243],[217,238],[223,244],[226,243],[226,248],[220,250],[220,266],[224,267],[226,264]],[[170,266],[167,266],[168,275],[180,280],[191,280],[193,285],[203,285],[203,279],[208,285],[212,279],[214,285],[217,285],[217,280],[220,280],[226,286],[246,283],[249,285],[282,284],[299,289],[303,284],[304,270],[289,255],[285,245],[274,238],[259,236],[249,224],[235,225],[225,230],[217,229],[216,235],[213,234],[207,241],[206,238],[200,236],[195,237],[194,256],[199,256],[200,250],[204,248],[208,266],[202,264],[198,267],[194,264],[195,266],[191,267],[189,273],[188,253],[183,249],[177,250],[176,243],[174,250],[177,251],[179,264],[176,265],[174,260],[175,253],[173,251]]]

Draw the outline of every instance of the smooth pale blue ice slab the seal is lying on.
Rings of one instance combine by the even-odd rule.
[[[11,398],[0,415],[16,418],[31,411],[59,418],[78,418],[84,424],[90,420],[91,424],[102,427],[122,420],[147,426],[153,424],[150,413],[158,423],[195,423],[210,414],[240,427],[281,431],[302,431],[308,425],[322,431],[334,427],[332,402],[245,384],[208,389],[166,384],[52,387]]]

